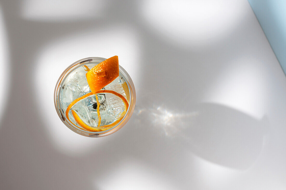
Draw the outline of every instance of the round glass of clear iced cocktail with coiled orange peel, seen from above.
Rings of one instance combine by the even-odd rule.
[[[106,90],[107,92],[114,91],[124,98],[122,96],[120,98],[113,93],[101,92],[92,94],[86,73],[89,69],[104,60],[104,58],[86,58],[75,62],[63,72],[56,85],[55,107],[59,117],[70,129],[84,136],[105,136],[115,132],[127,122],[134,110],[134,84],[128,73],[120,66],[119,76],[104,86],[102,90]],[[67,119],[65,112],[69,105],[74,100],[89,93],[91,95],[79,100],[68,110],[69,119]],[[124,105],[124,99],[128,102],[128,108]],[[102,131],[86,131],[75,120],[76,116],[72,114],[72,111],[90,127],[110,127],[103,128]]]

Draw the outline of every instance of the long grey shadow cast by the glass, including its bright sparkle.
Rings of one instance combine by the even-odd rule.
[[[154,144],[166,138],[174,149],[180,147],[208,162],[245,170],[259,157],[267,140],[269,123],[266,117],[257,120],[231,107],[214,103],[185,102],[180,109],[170,109],[166,105],[156,107],[154,105],[159,101],[154,101],[147,104],[149,109],[145,109],[148,97],[150,95],[138,103],[134,120],[138,122],[136,125],[149,128],[158,135],[152,140]],[[140,109],[142,105],[144,107]],[[180,113],[182,110],[189,111]]]

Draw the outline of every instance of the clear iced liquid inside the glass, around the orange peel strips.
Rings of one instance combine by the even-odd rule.
[[[89,63],[85,64],[88,68],[93,68],[96,64]],[[68,105],[75,99],[82,97],[83,95],[90,93],[90,87],[86,79],[87,71],[84,70],[83,64],[69,73],[60,89],[60,106],[65,113]],[[122,75],[119,73],[117,77],[110,84],[106,85],[103,89],[113,90],[120,93],[126,98],[126,93],[122,87],[122,84],[126,82]],[[129,92],[128,92],[129,93]],[[96,102],[96,96],[98,96],[99,105]],[[121,113],[124,111],[123,101],[114,94],[111,93],[100,93],[94,94],[78,101],[71,110],[76,111],[78,116],[88,125],[97,127],[98,126],[98,114],[97,107],[99,106],[101,124],[100,126],[112,124],[118,119]],[[71,110],[69,111],[70,120],[79,126],[74,117],[72,116]]]

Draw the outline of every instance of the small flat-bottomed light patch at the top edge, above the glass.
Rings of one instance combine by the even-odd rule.
[[[106,3],[103,0],[23,0],[21,17],[39,22],[68,22],[102,18]]]

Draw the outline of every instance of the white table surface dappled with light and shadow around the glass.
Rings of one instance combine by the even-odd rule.
[[[286,189],[286,78],[249,3],[0,1],[0,189]],[[119,56],[137,102],[69,130],[61,72]]]

